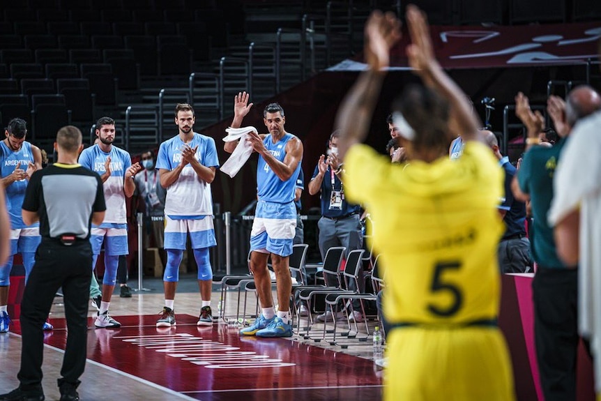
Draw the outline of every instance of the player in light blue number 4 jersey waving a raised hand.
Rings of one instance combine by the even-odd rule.
[[[234,100],[232,128],[240,128],[250,111],[248,93],[238,93]],[[259,153],[257,165],[257,210],[250,232],[250,268],[261,303],[261,315],[252,326],[243,328],[242,335],[258,337],[290,337],[289,303],[292,281],[289,257],[296,234],[296,206],[294,204],[296,179],[303,160],[303,143],[284,130],[284,109],[271,103],[263,111],[268,134],[250,132],[245,139]],[[225,151],[231,153],[237,143],[225,142]],[[271,255],[277,285],[277,312],[271,295],[271,277],[267,259]]]

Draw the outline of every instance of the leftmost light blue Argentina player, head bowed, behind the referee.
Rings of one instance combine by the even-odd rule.
[[[25,268],[25,281],[29,278],[40,245],[40,224],[26,225],[21,217],[21,206],[31,174],[42,168],[42,153],[37,146],[26,142],[26,122],[12,119],[4,131],[6,138],[0,142],[0,174],[2,188],[6,190],[6,206],[10,218],[10,257],[0,267],[0,333],[8,332],[8,287],[13,256],[21,254]],[[52,330],[48,322],[44,330]]]

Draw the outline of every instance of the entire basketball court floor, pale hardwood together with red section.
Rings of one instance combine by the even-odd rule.
[[[214,315],[218,297],[213,292]],[[144,293],[112,298],[112,316],[122,326],[88,331],[88,363],[78,389],[82,400],[381,399],[382,372],[374,368],[369,343],[342,349],[296,335],[241,337],[238,327],[224,322],[197,326],[200,298],[192,293],[176,295],[176,327],[156,328],[162,298]],[[235,302],[229,303],[228,312],[235,307]],[[93,315],[91,308],[90,327]],[[43,386],[47,400],[58,400],[56,378],[66,342],[60,297],[55,298],[50,321],[54,331],[45,334]],[[18,385],[20,347],[15,321],[10,333],[0,334],[3,392]]]

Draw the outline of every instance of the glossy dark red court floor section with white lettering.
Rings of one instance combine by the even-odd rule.
[[[177,315],[120,316],[121,328],[88,332],[88,358],[197,400],[379,400],[381,371],[365,358],[282,338],[241,337],[227,324],[197,326]],[[64,349],[64,319],[52,319],[48,345]],[[93,321],[89,321],[93,326]],[[17,324],[14,333],[20,333]]]

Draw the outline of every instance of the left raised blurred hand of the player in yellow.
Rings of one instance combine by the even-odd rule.
[[[365,24],[364,54],[372,70],[390,66],[390,48],[401,38],[401,22],[393,13],[374,11]]]

